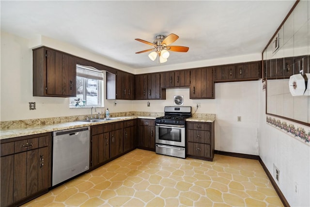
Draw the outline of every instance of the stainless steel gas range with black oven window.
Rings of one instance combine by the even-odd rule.
[[[166,106],[165,116],[155,119],[155,151],[157,154],[186,157],[186,118],[190,106]]]

